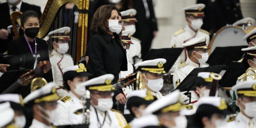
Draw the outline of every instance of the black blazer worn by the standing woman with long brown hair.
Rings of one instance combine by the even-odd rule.
[[[114,33],[115,39],[118,42],[118,45],[123,51],[124,62],[120,65],[118,55],[114,47],[110,46],[110,40],[113,35],[105,34],[95,34],[89,41],[88,44],[88,64],[87,68],[94,73],[94,77],[102,76],[104,74],[113,74],[115,76],[114,83],[118,80],[118,74],[120,71],[127,70],[127,59],[126,52],[121,45],[120,38],[118,34]]]

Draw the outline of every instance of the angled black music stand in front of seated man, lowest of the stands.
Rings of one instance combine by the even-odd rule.
[[[216,65],[216,66],[205,67],[205,68],[194,68],[188,74],[188,76],[186,76],[186,78],[182,80],[182,82],[176,89],[179,89],[180,92],[196,90],[195,83],[196,83],[197,74],[199,72],[214,72],[219,74],[224,68],[225,68],[225,65]]]

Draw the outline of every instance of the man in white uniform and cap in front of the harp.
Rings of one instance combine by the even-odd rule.
[[[63,74],[65,69],[74,66],[74,61],[68,52],[70,42],[70,27],[63,27],[49,32],[47,38],[52,42],[53,50],[50,57],[52,64],[53,81],[56,84],[56,90],[60,97],[66,96],[68,91],[60,88],[63,85]],[[47,38],[45,38],[47,40]]]

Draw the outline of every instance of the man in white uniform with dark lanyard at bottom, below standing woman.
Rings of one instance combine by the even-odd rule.
[[[89,128],[123,128],[127,122],[119,112],[110,110],[115,89],[111,82],[114,75],[105,74],[85,82],[90,91],[90,125]]]

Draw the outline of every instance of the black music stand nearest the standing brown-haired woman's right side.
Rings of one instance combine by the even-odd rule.
[[[176,62],[180,56],[183,48],[160,48],[160,49],[150,49],[144,60],[153,60],[157,58],[166,59],[164,64],[164,70],[168,72],[173,64]]]

